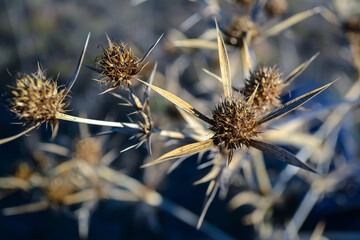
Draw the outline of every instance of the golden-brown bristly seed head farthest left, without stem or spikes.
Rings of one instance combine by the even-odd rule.
[[[40,73],[20,75],[16,86],[10,88],[10,111],[32,125],[56,124],[56,113],[65,112],[68,106],[68,103],[63,103],[66,89],[59,90],[56,82]]]

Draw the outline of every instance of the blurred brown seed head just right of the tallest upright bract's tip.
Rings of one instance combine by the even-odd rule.
[[[247,41],[259,34],[257,25],[249,16],[235,16],[227,29],[226,42],[233,46],[242,46],[243,34],[246,32]]]

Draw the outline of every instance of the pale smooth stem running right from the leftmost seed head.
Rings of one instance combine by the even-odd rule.
[[[75,117],[71,115],[67,115],[64,113],[57,113],[56,114],[57,119],[70,121],[70,122],[78,122],[78,123],[86,123],[91,125],[99,125],[99,126],[107,126],[107,127],[130,127],[134,129],[140,129],[137,124],[134,123],[121,123],[121,122],[110,122],[110,121],[101,121],[101,120],[94,120],[94,119],[88,119],[88,118],[81,118],[81,117]]]

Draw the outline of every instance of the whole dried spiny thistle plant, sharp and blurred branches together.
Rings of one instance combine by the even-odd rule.
[[[222,16],[224,14],[217,1],[209,0],[205,2],[205,10],[202,12],[203,17]],[[294,218],[285,226],[287,237],[296,237],[302,223],[316,201],[323,194],[335,191],[340,186],[341,181],[349,178],[356,171],[356,168],[337,168],[328,176],[318,176],[316,174],[306,174],[304,171],[297,173],[297,168],[286,167],[280,173],[279,180],[272,186],[263,163],[264,157],[260,152],[264,153],[265,156],[270,155],[289,165],[314,173],[322,173],[324,171],[319,171],[319,169],[326,168],[326,164],[330,164],[332,156],[335,155],[335,152],[333,155],[327,152],[336,142],[336,140],[332,139],[334,135],[338,134],[338,129],[335,127],[336,123],[341,122],[344,117],[330,113],[328,118],[324,119],[321,128],[314,134],[299,130],[299,128],[304,127],[307,119],[311,117],[304,117],[300,120],[295,119],[295,123],[291,119],[289,121],[286,119],[281,120],[284,121],[284,123],[281,123],[282,125],[280,124],[281,129],[276,132],[273,131],[268,126],[270,121],[272,122],[272,120],[283,117],[290,111],[301,107],[304,103],[328,88],[333,82],[294,100],[282,103],[282,95],[287,92],[286,88],[309,66],[317,55],[301,64],[283,78],[277,66],[259,65],[254,69],[254,62],[250,57],[252,49],[249,46],[269,36],[274,36],[314,14],[321,13],[336,26],[342,26],[352,46],[354,66],[359,70],[359,51],[356,44],[359,42],[359,18],[351,17],[346,21],[342,21],[340,17],[338,18],[338,16],[326,8],[317,7],[295,14],[272,27],[259,28],[259,25],[262,25],[264,20],[263,18],[258,18],[256,14],[259,12],[259,8],[261,8],[261,11],[266,12],[268,18],[279,17],[286,11],[286,2],[280,0],[261,1],[261,4],[255,3],[257,1],[233,2],[243,7],[243,14],[241,16],[231,16],[230,19],[233,20],[228,27],[219,28],[216,23],[217,43],[208,41],[211,40],[211,37],[209,39],[205,37],[205,41],[204,39],[187,39],[175,42],[175,45],[180,47],[218,49],[221,77],[208,70],[206,72],[222,83],[223,96],[220,102],[211,103],[209,114],[203,114],[197,110],[194,107],[196,101],[190,105],[174,94],[155,86],[153,82],[156,76],[159,76],[157,63],[153,67],[147,82],[138,78],[139,73],[147,65],[145,60],[158,44],[161,37],[149,48],[142,58],[138,58],[127,44],[115,43],[106,36],[108,47],[104,48],[101,56],[97,58],[95,67],[87,66],[98,73],[98,76],[95,78],[96,81],[107,85],[108,89],[101,94],[111,92],[114,97],[122,101],[122,105],[127,105],[133,109],[133,112],[128,116],[129,123],[92,120],[65,114],[68,111],[66,108],[70,105],[67,97],[83,65],[90,35],[86,40],[73,79],[67,87],[59,87],[56,81],[46,77],[39,58],[37,72],[18,74],[15,85],[10,87],[9,110],[15,113],[20,120],[23,120],[23,124],[29,126],[29,128],[13,137],[0,140],[0,144],[12,141],[44,123],[51,125],[53,137],[55,137],[58,129],[58,120],[95,124],[111,127],[111,129],[99,132],[93,136],[87,130],[82,130],[81,139],[83,140],[77,141],[74,144],[73,153],[71,153],[71,150],[55,144],[40,144],[39,149],[41,151],[50,152],[55,155],[60,154],[62,157],[66,157],[67,161],[49,164],[47,157],[44,157],[45,162],[48,162],[46,165],[50,167],[43,167],[41,171],[36,171],[28,165],[21,164],[13,176],[1,178],[0,186],[7,190],[2,196],[10,194],[15,190],[30,191],[35,188],[43,190],[43,197],[40,202],[6,208],[3,209],[3,213],[13,215],[39,211],[48,207],[66,208],[70,205],[80,204],[74,215],[79,221],[81,236],[86,238],[89,231],[91,213],[96,208],[99,200],[113,199],[117,201],[139,202],[145,203],[146,206],[160,208],[169,212],[180,220],[194,227],[197,226],[198,229],[201,227],[200,229],[205,234],[208,234],[209,237],[216,236],[226,239],[229,236],[226,234],[222,235],[222,232],[219,232],[216,227],[206,222],[203,223],[203,221],[218,189],[220,189],[220,194],[224,197],[230,185],[234,182],[234,176],[240,176],[239,172],[241,171],[244,175],[242,184],[245,186],[249,184],[247,186],[249,190],[240,192],[230,201],[229,205],[232,209],[246,204],[254,205],[254,211],[245,217],[245,222],[254,225],[260,236],[271,238],[274,236],[274,229],[271,223],[273,210],[278,204],[281,204],[286,184],[293,176],[297,175],[308,181],[311,184],[311,188],[303,200],[304,204],[299,207]],[[193,19],[189,18],[184,22],[182,25],[183,30],[187,30],[195,24],[196,21],[192,22]],[[221,25],[225,26],[225,18],[221,19]],[[214,29],[211,29],[211,31],[214,32]],[[225,41],[221,31],[224,34]],[[208,35],[204,34],[204,36]],[[235,73],[230,71],[230,65],[236,65],[237,63],[232,63],[229,60],[225,44],[240,49],[240,54],[239,52],[234,52],[233,54],[241,58],[242,62],[243,87],[241,88],[235,87],[232,83],[232,78],[236,74],[238,67],[236,67]],[[230,59],[232,60],[232,58]],[[141,85],[135,89],[135,85],[133,86],[134,81],[145,84],[145,90],[143,91]],[[358,93],[358,82],[355,83],[353,90],[349,92],[347,96],[349,99]],[[121,88],[121,91],[125,92],[125,94],[115,93],[117,88]],[[193,133],[165,130],[158,127],[158,124],[153,121],[151,116],[150,90],[159,93],[177,105]],[[336,105],[332,109],[341,110],[345,115],[350,111],[351,104]],[[315,110],[314,116],[320,116],[321,112],[319,112]],[[83,127],[81,128],[84,129]],[[195,215],[171,203],[156,191],[159,182],[165,177],[166,170],[155,169],[155,166],[145,168],[144,171],[148,172],[148,174],[156,174],[157,180],[150,181],[145,178],[144,183],[141,183],[133,177],[115,171],[110,166],[118,154],[115,150],[105,154],[104,142],[108,141],[108,139],[99,141],[99,136],[114,133],[130,135],[130,138],[136,141],[134,145],[122,149],[121,153],[132,148],[137,149],[145,144],[150,157],[153,155],[152,139],[155,136],[157,136],[156,140],[158,142],[161,142],[161,138],[158,139],[158,137],[180,140],[180,144],[188,141],[192,142],[178,147],[156,160],[151,161],[149,158],[150,160],[146,160],[143,167],[178,159],[170,168],[169,171],[171,171],[187,157],[196,153],[210,151],[210,154],[207,155],[208,161],[200,165],[199,168],[212,166],[212,169],[205,177],[195,183],[209,182],[205,204],[197,224]],[[291,137],[291,135],[295,137]],[[299,138],[303,139],[299,140]],[[300,151],[298,154],[293,155],[277,146],[277,143],[279,145],[295,145]],[[256,149],[260,150],[260,152],[255,151]],[[161,150],[156,149],[155,154],[157,155]],[[308,165],[306,161],[316,156],[321,157],[318,157],[316,163],[319,164],[319,167],[315,170],[313,167],[310,167],[312,164]],[[201,158],[203,158],[203,155],[199,154],[199,159]],[[252,185],[251,183],[253,174],[251,165],[255,169],[254,174],[258,182],[257,187],[254,187],[256,184]],[[342,175],[342,173],[344,174]],[[338,175],[342,175],[342,177],[338,177]],[[335,186],[328,189],[325,187],[328,184],[335,184]],[[257,188],[259,192],[254,191]],[[310,204],[306,204],[309,201]],[[191,220],[185,218],[184,214],[190,214]],[[211,235],[209,234],[210,232],[216,234]]]

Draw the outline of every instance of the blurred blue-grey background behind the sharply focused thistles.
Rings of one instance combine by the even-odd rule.
[[[84,60],[89,66],[96,66],[103,48],[108,46],[106,34],[114,42],[128,44],[141,57],[164,33],[139,77],[147,80],[157,62],[154,84],[204,112],[213,106],[206,103],[214,104],[221,99],[221,85],[202,70],[219,73],[217,51],[211,47],[188,47],[184,40],[215,42],[213,16],[224,31],[234,16],[250,16],[259,31],[249,44],[254,64],[276,65],[283,76],[320,53],[287,88],[284,102],[339,79],[303,109],[290,114],[288,120],[274,126],[280,129],[283,124],[288,134],[283,137],[285,142],[278,141],[279,145],[299,158],[310,159],[312,166],[319,166],[317,170],[323,174],[294,173],[285,164],[265,157],[270,188],[264,191],[256,167],[249,163],[250,170],[241,167],[231,172],[227,194],[221,198],[215,196],[200,230],[196,230],[196,222],[204,206],[208,183],[193,183],[204,177],[209,168],[199,168],[196,155],[169,174],[171,163],[142,169],[140,166],[148,159],[145,147],[120,153],[137,141],[129,140],[129,134],[95,137],[95,145],[86,151],[89,154],[90,149],[98,149],[93,154],[98,154],[97,158],[106,162],[107,168],[120,174],[111,177],[107,172],[111,179],[97,185],[100,189],[116,189],[111,197],[97,195],[74,204],[71,200],[66,203],[59,200],[44,205],[44,201],[52,199],[49,193],[52,189],[44,190],[42,184],[36,184],[40,181],[36,179],[45,176],[50,180],[42,181],[51,181],[54,169],[74,158],[79,139],[108,130],[61,121],[58,136],[52,141],[51,128],[44,124],[29,136],[0,146],[1,239],[359,239],[360,18],[356,16],[360,13],[360,2],[274,1],[286,4],[285,10],[276,16],[264,12],[266,2],[0,0],[0,138],[24,130],[24,126],[12,124],[17,119],[7,110],[7,86],[14,84],[17,74],[35,72],[39,53],[46,75],[66,86],[89,32],[91,38]],[[299,23],[269,37],[264,34],[283,20],[319,6]],[[228,44],[229,54],[238,54],[237,48]],[[237,68],[240,66],[232,66],[233,83],[241,87],[242,75],[241,71],[235,71]],[[128,122],[126,114],[132,109],[121,106],[119,103],[123,101],[111,94],[99,95],[105,88],[94,81],[96,78],[97,74],[90,69],[81,69],[71,90],[68,107],[71,114]],[[141,86],[134,85],[141,92]],[[125,94],[121,89],[116,93]],[[150,106],[156,126],[191,132],[177,109],[159,95],[151,93]],[[319,145],[309,148],[305,139],[286,143],[292,134],[301,138],[300,133],[314,135]],[[174,149],[174,145],[184,142],[154,140],[153,156]],[[211,158],[208,155],[211,154],[205,153],[203,159]],[[103,156],[110,156],[111,160],[104,160]],[[30,177],[34,174],[35,178]],[[81,174],[72,174],[65,179],[74,177],[71,181],[79,185],[85,181]],[[127,195],[127,187],[119,184],[121,180],[127,181],[124,186],[131,183],[136,186],[134,189],[151,192],[152,197],[133,199]],[[117,192],[117,187],[125,192]],[[54,191],[59,193],[62,189]],[[235,197],[241,193],[246,194],[240,195],[242,200],[236,202]],[[156,203],[159,196],[160,204]],[[34,203],[40,204],[31,205]]]

